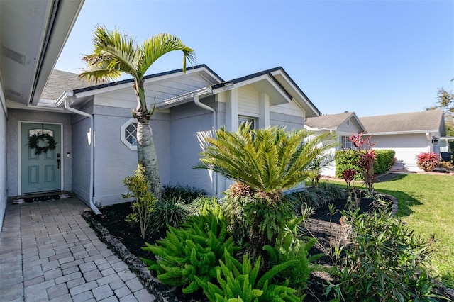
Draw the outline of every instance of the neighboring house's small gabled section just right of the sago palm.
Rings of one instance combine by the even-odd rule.
[[[354,112],[306,118],[304,128],[314,131],[314,134],[326,132],[336,134],[338,147],[336,147],[336,149],[333,148],[331,153],[336,152],[336,150],[352,149],[352,143],[348,139],[350,135],[366,132],[364,126]],[[331,162],[331,164],[321,171],[321,174],[331,177],[336,176],[336,162]]]

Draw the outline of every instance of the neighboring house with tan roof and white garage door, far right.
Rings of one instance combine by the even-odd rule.
[[[444,138],[445,118],[443,110],[368,116],[360,118],[375,149],[392,149],[395,157],[409,171],[419,171],[416,156],[421,152],[448,152]]]

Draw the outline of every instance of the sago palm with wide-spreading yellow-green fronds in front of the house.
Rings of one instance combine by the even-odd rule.
[[[328,155],[336,139],[329,133],[315,136],[304,129],[251,130],[248,123],[243,123],[236,133],[221,128],[216,130],[216,138],[206,141],[209,144],[201,152],[196,168],[211,169],[279,198],[283,190],[313,177],[311,163]]]

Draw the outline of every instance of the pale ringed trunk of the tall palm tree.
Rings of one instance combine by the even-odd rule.
[[[137,113],[137,157],[138,164],[145,168],[145,175],[150,183],[150,191],[159,199],[161,197],[161,181],[157,166],[157,154],[153,135],[149,127],[150,116]]]

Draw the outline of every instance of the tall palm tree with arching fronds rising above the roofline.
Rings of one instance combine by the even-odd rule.
[[[150,191],[155,198],[160,198],[161,195],[155,143],[149,127],[155,106],[148,110],[143,83],[145,72],[150,66],[162,55],[175,50],[183,52],[183,72],[186,72],[186,61],[193,62],[195,53],[179,38],[168,33],[160,33],[137,45],[135,40],[128,38],[126,34],[118,33],[117,30],[109,31],[104,26],[97,26],[94,31],[94,50],[91,55],[83,57],[82,60],[87,62],[88,66],[79,74],[80,79],[96,83],[118,79],[123,73],[133,77],[137,107],[132,110],[132,113],[133,117],[138,120],[138,165],[144,167],[145,175],[150,183]]]

